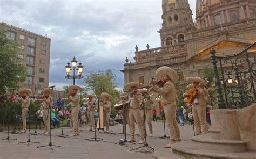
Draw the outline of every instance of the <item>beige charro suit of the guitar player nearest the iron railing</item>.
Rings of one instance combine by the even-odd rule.
[[[192,113],[194,119],[194,126],[196,127],[196,135],[206,134],[208,133],[208,126],[206,124],[206,102],[211,100],[211,97],[208,91],[204,88],[199,87],[198,96],[197,96],[198,104],[191,103],[193,105]]]

